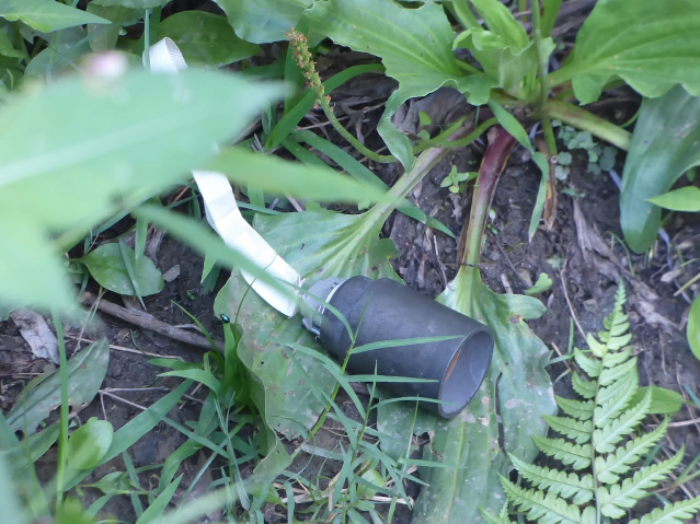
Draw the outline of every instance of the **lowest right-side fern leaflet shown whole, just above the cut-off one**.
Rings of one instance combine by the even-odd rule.
[[[600,512],[613,519],[624,515],[622,508],[632,508],[638,500],[649,494],[649,490],[656,487],[670,471],[678,467],[682,461],[685,450],[681,446],[678,453],[670,458],[639,469],[632,478],[627,478],[619,485],[598,489]]]

